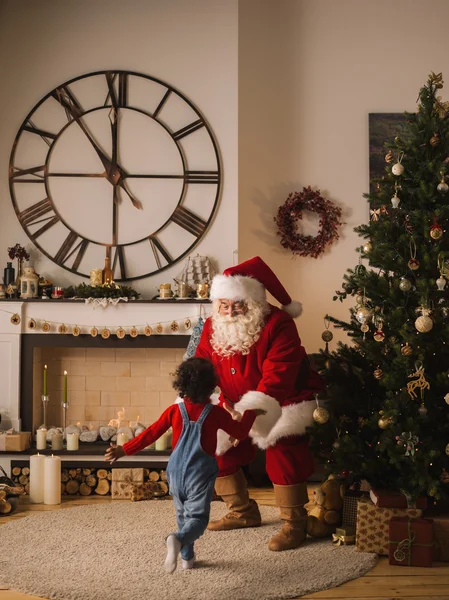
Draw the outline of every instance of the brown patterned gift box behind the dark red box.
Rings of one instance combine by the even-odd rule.
[[[369,498],[357,504],[356,548],[359,552],[376,552],[388,556],[388,526],[393,517],[422,517],[419,508],[378,508]]]

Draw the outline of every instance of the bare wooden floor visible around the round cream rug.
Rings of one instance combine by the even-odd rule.
[[[271,489],[251,488],[251,496],[260,504],[273,505]],[[10,517],[0,518],[0,524],[20,519],[31,511],[70,509],[81,504],[110,502],[109,498],[64,497],[60,506],[29,504],[21,499],[20,508]],[[349,581],[340,587],[302,596],[302,598],[326,598],[327,600],[449,600],[449,563],[437,563],[431,569],[419,567],[392,567],[382,557],[377,566],[365,577]],[[0,600],[38,600],[10,590],[0,590]],[[40,599],[41,600],[41,599]],[[229,600],[238,600],[229,599]],[[254,600],[257,600],[255,598]]]

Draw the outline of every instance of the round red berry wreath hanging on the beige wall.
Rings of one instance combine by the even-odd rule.
[[[318,213],[320,217],[320,230],[316,237],[302,235],[297,231],[296,221],[302,219],[305,210]],[[281,246],[298,256],[318,258],[326,246],[339,238],[341,208],[323,198],[319,190],[313,191],[309,186],[303,188],[302,192],[290,194],[279,207],[274,221],[278,227],[277,235],[281,237]]]

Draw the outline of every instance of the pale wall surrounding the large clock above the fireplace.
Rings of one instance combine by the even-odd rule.
[[[192,254],[208,255],[221,268],[232,264],[237,247],[237,41],[237,0],[0,1],[1,272],[7,247],[19,242],[33,248],[8,189],[15,135],[44,95],[73,77],[102,69],[160,78],[204,114],[218,141],[224,186],[217,216]],[[33,258],[36,270],[55,285],[82,281],[38,251]],[[149,296],[160,283],[171,281],[184,262],[133,286]]]

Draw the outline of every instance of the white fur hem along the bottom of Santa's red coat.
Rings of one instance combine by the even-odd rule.
[[[281,418],[266,437],[254,437],[254,443],[265,450],[274,446],[276,442],[289,435],[304,435],[306,427],[313,423],[313,411],[316,408],[315,400],[308,400],[298,404],[289,404],[282,407]]]

